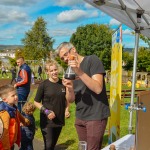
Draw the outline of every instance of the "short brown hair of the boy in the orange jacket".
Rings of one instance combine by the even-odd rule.
[[[15,91],[16,89],[10,85],[10,84],[7,84],[7,85],[3,85],[0,87],[0,97],[3,99],[4,96],[6,96],[9,92],[12,92],[12,91]]]

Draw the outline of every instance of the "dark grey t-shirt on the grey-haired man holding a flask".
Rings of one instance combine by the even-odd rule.
[[[105,75],[102,62],[96,55],[86,56],[80,64],[81,69],[90,77]],[[82,120],[101,120],[110,116],[105,81],[100,94],[91,91],[81,80],[74,81],[76,117]]]

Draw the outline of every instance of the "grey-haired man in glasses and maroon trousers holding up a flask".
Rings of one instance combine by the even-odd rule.
[[[75,127],[79,141],[87,142],[87,150],[100,150],[110,116],[103,64],[96,55],[79,55],[69,42],[61,43],[57,53],[78,77],[72,81],[74,89],[69,91],[73,97],[70,102],[76,103]],[[74,59],[70,59],[70,55]],[[63,82],[67,87],[69,81],[64,79]]]

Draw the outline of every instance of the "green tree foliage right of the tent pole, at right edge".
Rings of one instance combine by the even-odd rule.
[[[144,47],[139,48],[138,60],[137,60],[137,70],[150,72],[150,50]]]

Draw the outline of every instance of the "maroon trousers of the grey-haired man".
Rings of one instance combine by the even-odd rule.
[[[100,150],[107,119],[84,121],[76,118],[75,127],[79,141],[87,142],[87,150]]]

